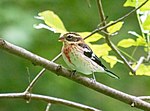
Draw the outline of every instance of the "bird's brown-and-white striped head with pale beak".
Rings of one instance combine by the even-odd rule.
[[[83,42],[83,38],[77,33],[69,32],[61,35],[59,41],[64,43],[79,43]]]

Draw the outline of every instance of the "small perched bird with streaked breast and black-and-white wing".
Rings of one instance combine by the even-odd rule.
[[[94,72],[105,72],[113,78],[119,78],[102,64],[79,34],[66,33],[60,36],[59,41],[63,42],[63,59],[71,69],[86,75],[94,74]]]

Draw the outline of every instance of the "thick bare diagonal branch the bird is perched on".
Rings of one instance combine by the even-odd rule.
[[[121,91],[110,88],[98,82],[93,83],[91,79],[81,76],[79,74],[71,76],[72,72],[67,70],[64,67],[61,67],[59,64],[56,64],[52,61],[49,61],[38,55],[35,55],[19,46],[16,46],[7,41],[4,41],[3,39],[0,39],[0,48],[12,54],[18,55],[19,57],[27,59],[36,65],[42,66],[46,68],[47,70],[54,72],[57,75],[66,77],[70,80],[73,80],[97,92],[103,93],[107,96],[120,100],[126,104],[129,104],[129,105],[134,104],[134,107],[136,108],[143,109],[143,110],[150,110],[150,104],[139,99],[138,97],[123,93]]]

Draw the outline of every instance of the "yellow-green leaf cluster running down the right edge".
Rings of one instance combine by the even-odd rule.
[[[144,1],[145,0],[139,0],[139,1],[127,0],[124,6],[125,7],[128,7],[128,6],[137,7]],[[142,31],[142,35],[139,35],[134,31],[129,31],[130,34],[136,37],[136,40],[133,40],[131,38],[123,39],[122,41],[118,43],[118,46],[125,47],[125,48],[131,47],[131,46],[135,46],[135,47],[141,46],[143,47],[144,51],[149,56],[150,54],[150,14],[149,14],[150,7],[149,6],[150,6],[150,1],[148,1],[142,8],[140,8],[137,11],[137,18],[138,18],[138,22]],[[134,63],[132,67],[134,67],[135,64],[136,63]],[[150,76],[150,67],[145,64],[141,64],[136,74]]]

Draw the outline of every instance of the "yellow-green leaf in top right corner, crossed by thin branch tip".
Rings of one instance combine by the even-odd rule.
[[[140,6],[143,2],[145,2],[145,0],[127,0],[125,3],[124,3],[124,7],[128,7],[128,6],[131,6],[131,7],[138,7]],[[140,8],[141,11],[146,11],[146,10],[150,10],[150,1],[148,1],[145,5],[143,5],[141,8]]]

